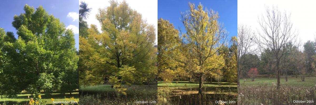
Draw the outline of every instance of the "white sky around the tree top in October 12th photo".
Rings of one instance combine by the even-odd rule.
[[[88,16],[87,23],[97,25],[98,30],[101,32],[101,26],[99,21],[95,18],[98,14],[98,9],[104,9],[110,6],[109,0],[80,0],[88,4],[89,8],[92,8],[90,15]],[[123,0],[117,0],[121,3]],[[136,10],[138,13],[142,14],[143,19],[147,20],[147,23],[154,25],[156,29],[156,43],[157,43],[157,0],[126,0],[126,3],[131,7],[131,9]]]

